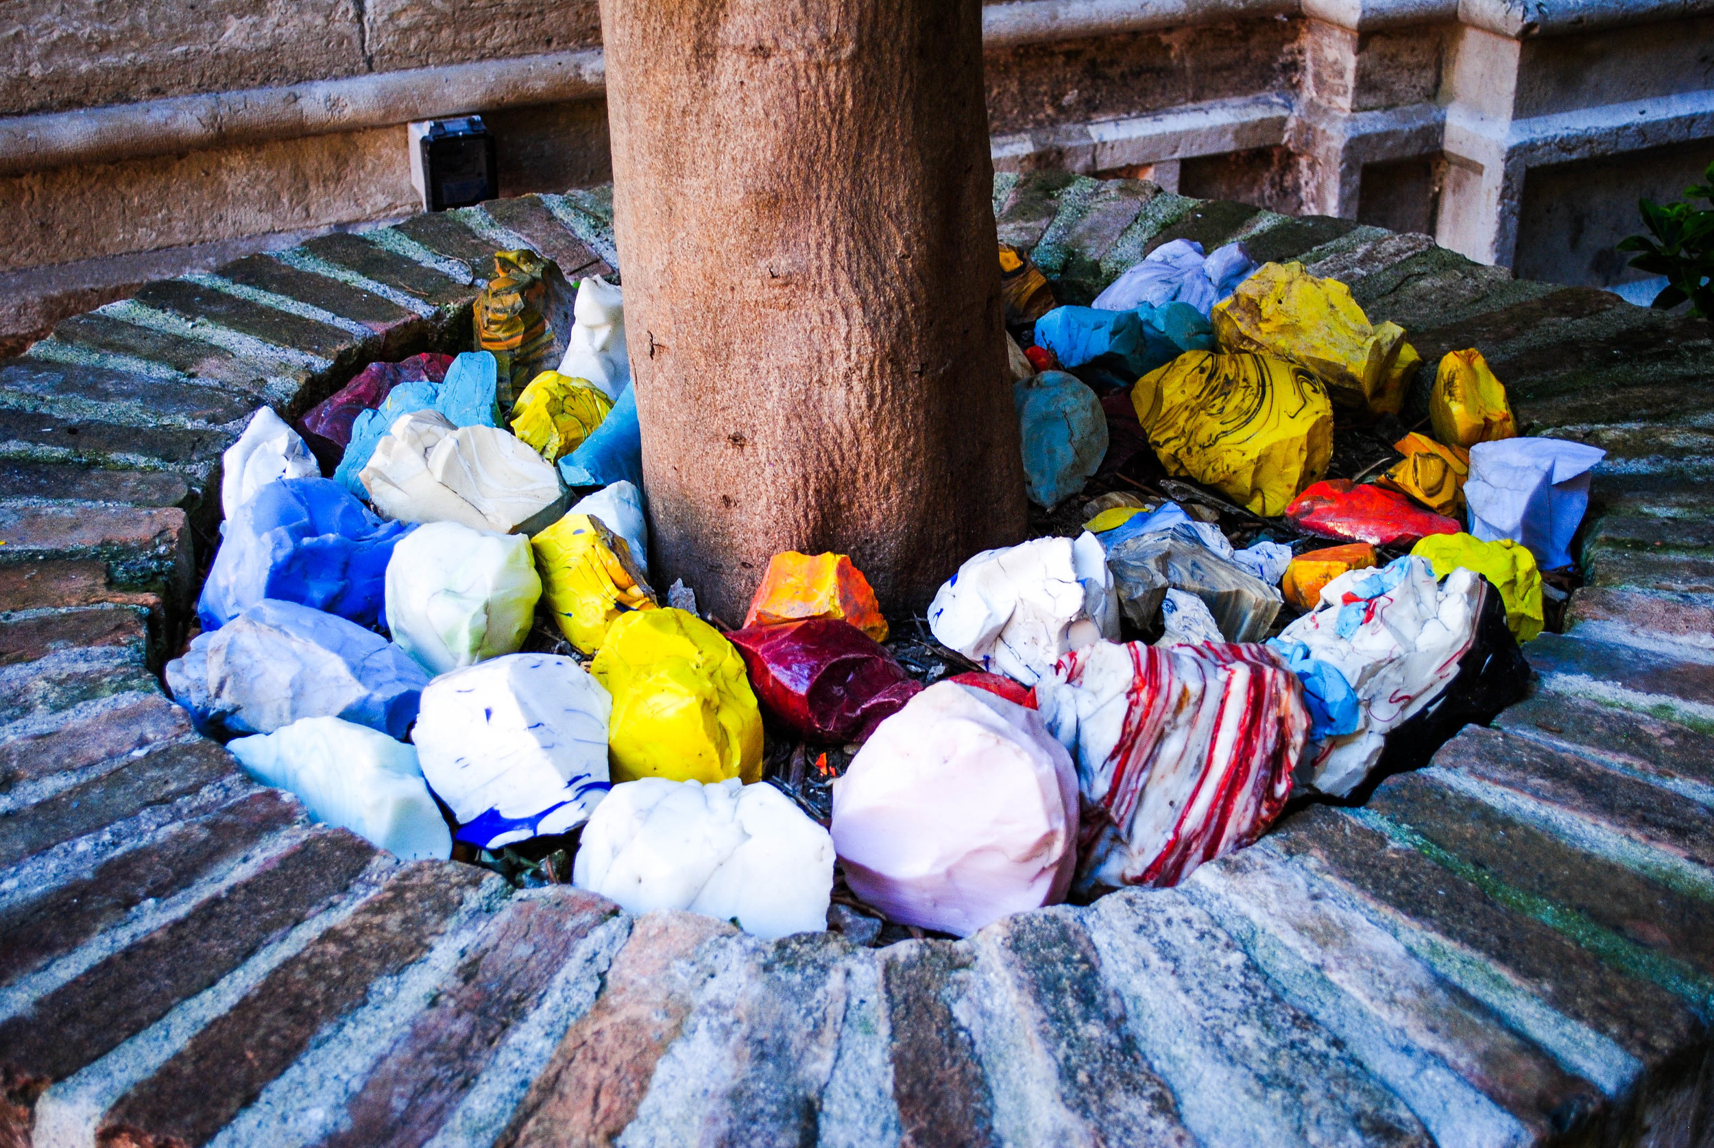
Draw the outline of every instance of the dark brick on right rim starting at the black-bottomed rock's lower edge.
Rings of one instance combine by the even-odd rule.
[[[1615,833],[1714,867],[1714,809],[1587,757],[1465,726],[1433,764],[1555,805]]]

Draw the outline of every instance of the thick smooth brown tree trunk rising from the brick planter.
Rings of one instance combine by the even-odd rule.
[[[883,608],[1018,541],[979,0],[602,0],[656,581]]]

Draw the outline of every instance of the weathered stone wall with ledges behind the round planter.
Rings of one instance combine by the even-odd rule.
[[[593,0],[21,0],[0,29],[0,350],[154,276],[417,209],[403,123],[483,111],[507,195],[607,178]],[[1714,158],[1714,0],[994,0],[994,159],[1637,279]]]

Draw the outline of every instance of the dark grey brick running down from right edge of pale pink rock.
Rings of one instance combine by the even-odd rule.
[[[984,994],[984,1011],[1004,1011],[1022,1021],[1025,1038],[1006,1033],[1008,1052],[1040,1049],[1058,1076],[1058,1103],[1073,1127],[1082,1126],[1090,1141],[1183,1148],[1196,1143],[1179,1119],[1172,1091],[1138,1050],[1124,1002],[1102,982],[1095,942],[1073,915],[1008,917],[979,934],[972,948],[987,960],[998,958],[1010,989]]]

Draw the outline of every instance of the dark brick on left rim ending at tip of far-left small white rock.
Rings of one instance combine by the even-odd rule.
[[[29,358],[0,363],[0,404],[134,427],[218,427],[255,410],[247,396],[219,387]]]

